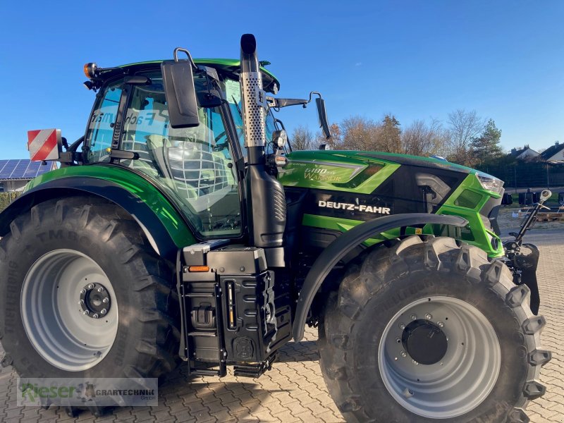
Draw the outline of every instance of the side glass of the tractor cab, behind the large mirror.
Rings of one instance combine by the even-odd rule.
[[[131,87],[120,144],[120,149],[136,152],[139,158],[114,160],[114,163],[154,181],[183,210],[200,238],[240,236],[237,173],[221,110],[200,108],[200,125],[196,128],[171,128],[161,72],[141,75],[147,76],[151,83]],[[204,87],[204,80],[197,75],[195,86],[196,90]],[[119,96],[114,94],[111,98],[116,99],[115,110],[112,109],[115,114]],[[104,113],[109,111],[104,109]],[[112,127],[108,125],[108,136],[104,137],[106,148],[111,146]],[[107,161],[102,156],[101,139],[92,137],[94,140],[99,158],[103,159],[97,161]]]

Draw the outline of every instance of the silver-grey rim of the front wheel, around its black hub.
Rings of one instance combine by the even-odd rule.
[[[412,355],[421,357],[424,352],[410,354],[405,348],[406,328],[419,320],[431,322],[446,336],[444,355],[433,364],[419,364]],[[378,364],[388,392],[405,409],[429,418],[457,417],[491,393],[501,367],[501,348],[493,326],[476,307],[436,296],[412,302],[388,322]]]

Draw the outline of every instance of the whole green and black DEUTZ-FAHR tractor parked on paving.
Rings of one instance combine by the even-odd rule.
[[[274,97],[261,65],[243,35],[240,61],[85,66],[85,136],[30,133],[32,157],[61,168],[0,214],[1,363],[259,377],[308,324],[347,421],[528,421],[551,353],[531,222],[499,238],[503,182],[443,159],[291,152],[275,112],[316,97],[329,137],[324,100]]]

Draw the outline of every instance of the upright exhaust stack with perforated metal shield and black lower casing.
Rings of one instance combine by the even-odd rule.
[[[266,93],[257,59],[257,41],[252,34],[241,37],[240,89],[245,127],[247,169],[245,195],[250,244],[265,248],[269,266],[284,266],[283,245],[286,228],[286,197],[281,183],[266,171]]]

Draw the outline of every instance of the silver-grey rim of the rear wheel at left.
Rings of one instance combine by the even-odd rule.
[[[109,278],[94,260],[75,250],[54,250],[32,264],[23,282],[21,314],[37,353],[69,372],[101,362],[118,331],[118,305]]]

